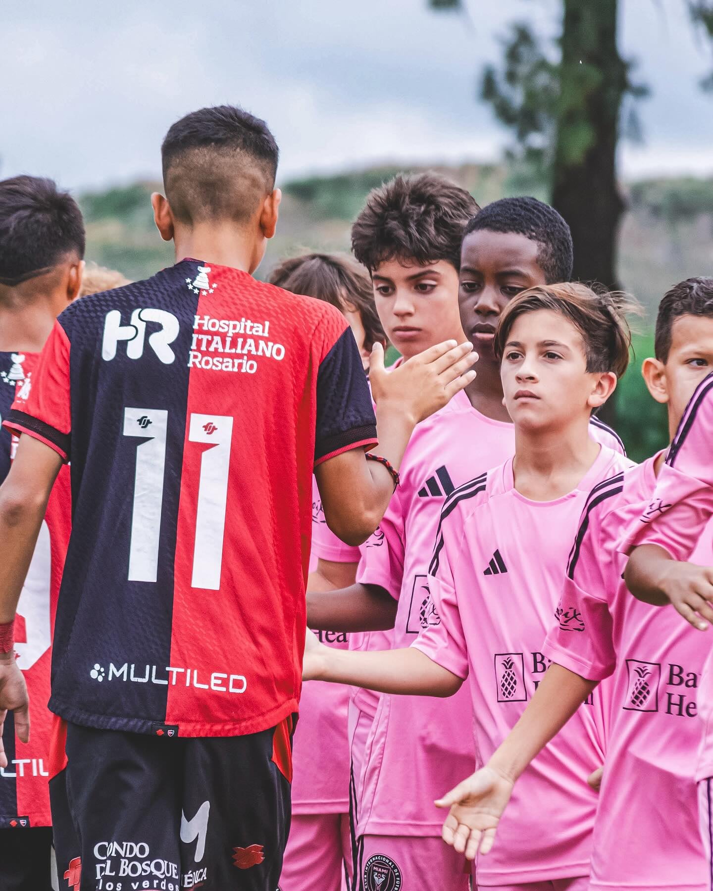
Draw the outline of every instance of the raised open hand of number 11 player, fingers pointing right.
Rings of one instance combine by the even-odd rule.
[[[470,342],[445,340],[387,372],[383,347],[376,343],[369,362],[374,402],[380,408],[395,406],[416,424],[438,412],[474,380],[471,365],[477,361]]]

